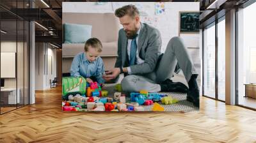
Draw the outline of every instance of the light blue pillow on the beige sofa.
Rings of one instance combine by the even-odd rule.
[[[84,43],[92,37],[92,26],[84,24],[64,24],[64,43]]]

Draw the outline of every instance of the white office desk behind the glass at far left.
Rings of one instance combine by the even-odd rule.
[[[20,89],[17,88],[18,94],[16,98],[16,88],[1,89],[1,102],[3,104],[16,104],[20,103]]]

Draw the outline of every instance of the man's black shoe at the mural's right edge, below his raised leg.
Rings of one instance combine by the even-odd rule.
[[[189,89],[187,93],[187,101],[192,102],[195,107],[199,108],[199,89]]]

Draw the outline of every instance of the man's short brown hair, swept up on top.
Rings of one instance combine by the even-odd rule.
[[[122,8],[118,8],[115,10],[115,15],[118,18],[124,17],[124,15],[129,15],[134,19],[136,15],[140,15],[140,12],[136,6],[129,4],[126,6],[123,6]]]

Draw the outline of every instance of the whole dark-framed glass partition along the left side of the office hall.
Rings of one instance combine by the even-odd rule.
[[[27,3],[12,1],[12,8],[28,8]],[[29,22],[3,8],[0,15],[0,114],[3,114],[29,103]]]

